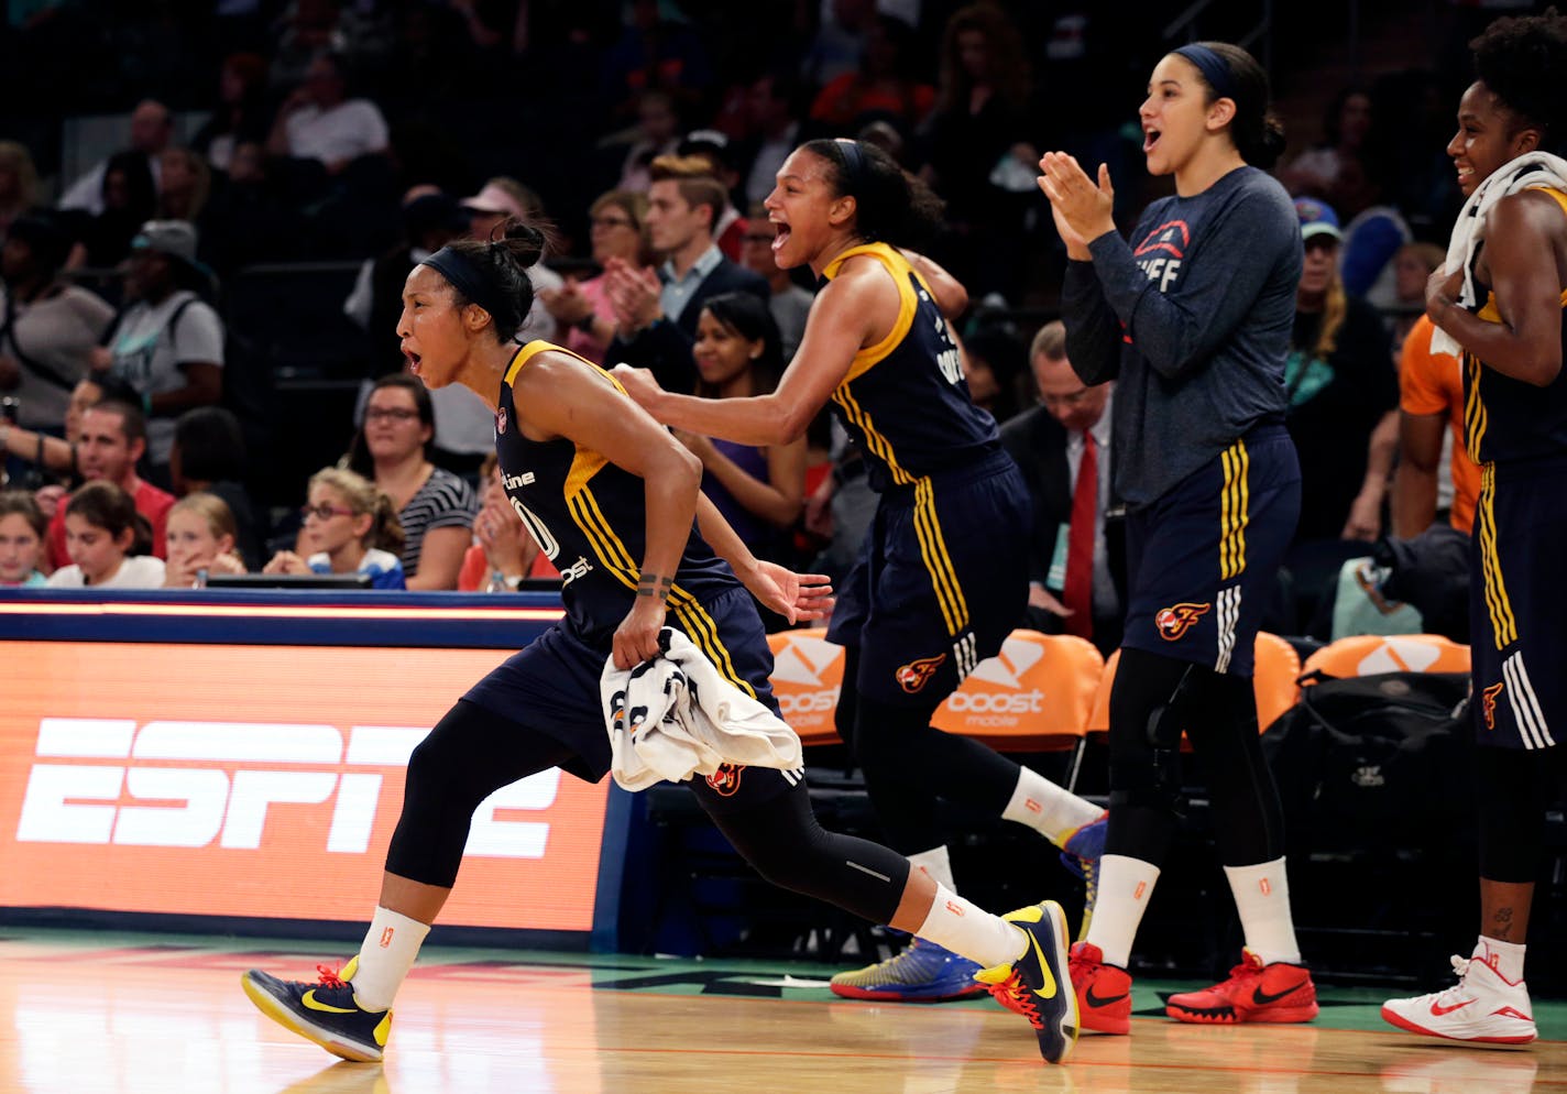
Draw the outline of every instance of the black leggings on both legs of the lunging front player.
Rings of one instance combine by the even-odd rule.
[[[505,785],[575,759],[577,752],[553,737],[459,701],[409,757],[387,871],[451,889],[480,802]],[[824,831],[801,781],[791,784],[777,771],[752,768],[741,785],[743,793],[755,793],[754,804],[710,793],[697,793],[697,799],[763,878],[873,923],[892,920],[909,879],[907,859]]]

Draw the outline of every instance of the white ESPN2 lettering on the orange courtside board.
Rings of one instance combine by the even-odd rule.
[[[274,804],[332,802],[326,849],[364,854],[384,776],[407,766],[428,729],[271,723],[44,718],[39,762],[27,781],[19,843],[124,846],[262,846]],[[467,854],[541,859],[547,821],[500,820],[498,810],[555,802],[555,768],[490,795],[473,815]],[[128,799],[128,802],[127,802]],[[273,820],[274,834],[287,812]]]

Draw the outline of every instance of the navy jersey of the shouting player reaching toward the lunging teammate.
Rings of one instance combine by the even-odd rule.
[[[823,271],[831,281],[854,255],[868,254],[898,282],[901,307],[892,332],[854,354],[832,404],[865,455],[871,489],[975,464],[1001,447],[995,418],[973,404],[957,346],[931,287],[885,243],[849,248]]]

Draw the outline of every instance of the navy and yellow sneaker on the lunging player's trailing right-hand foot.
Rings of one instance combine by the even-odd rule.
[[[1028,1019],[1045,1063],[1064,1063],[1078,1033],[1077,992],[1067,970],[1066,912],[1047,900],[1001,918],[1023,931],[1028,948],[1009,965],[976,972],[975,980],[986,984],[1001,1006]]]

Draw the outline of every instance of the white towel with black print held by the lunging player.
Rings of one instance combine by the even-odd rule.
[[[724,763],[793,771],[801,765],[799,735],[768,707],[726,680],[707,657],[672,627],[668,650],[630,671],[605,661],[599,677],[610,774],[627,790],[685,782]]]

